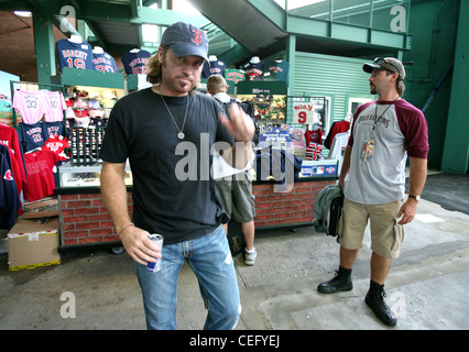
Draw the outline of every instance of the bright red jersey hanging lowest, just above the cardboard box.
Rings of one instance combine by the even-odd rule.
[[[24,161],[26,162],[30,182],[25,197],[33,201],[53,195],[55,188],[54,167],[59,161],[59,156],[43,148],[24,154]]]

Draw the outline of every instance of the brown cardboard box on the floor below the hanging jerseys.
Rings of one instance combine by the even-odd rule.
[[[8,233],[10,271],[61,263],[58,217],[21,219]]]

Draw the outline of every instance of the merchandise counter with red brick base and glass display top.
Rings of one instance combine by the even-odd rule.
[[[332,169],[337,163],[326,168]],[[279,193],[273,180],[253,182],[255,229],[295,228],[310,226],[316,196],[326,186],[336,184],[336,174],[314,174],[324,166],[305,165],[292,189]],[[120,240],[105,207],[99,188],[100,164],[58,167],[58,199],[61,250],[81,245],[119,246]],[[308,176],[302,176],[302,174]],[[129,212],[132,213],[132,185],[130,169],[126,170]]]

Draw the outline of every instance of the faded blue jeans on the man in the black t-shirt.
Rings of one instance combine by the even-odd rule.
[[[164,245],[161,270],[150,273],[137,263],[146,328],[174,330],[177,277],[184,260],[197,276],[208,310],[204,329],[233,329],[241,312],[238,279],[223,227],[193,241]]]

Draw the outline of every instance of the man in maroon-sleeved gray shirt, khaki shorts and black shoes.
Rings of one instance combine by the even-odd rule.
[[[403,224],[414,219],[425,185],[428,127],[421,110],[402,99],[405,69],[392,57],[364,64],[371,94],[378,99],[360,106],[353,117],[339,185],[343,213],[339,224],[340,267],[318,292],[351,290],[351,270],[370,219],[371,280],[367,305],[388,326],[397,320],[384,302],[384,282],[391,260],[400,254]],[[405,164],[411,161],[410,195],[404,201]]]

